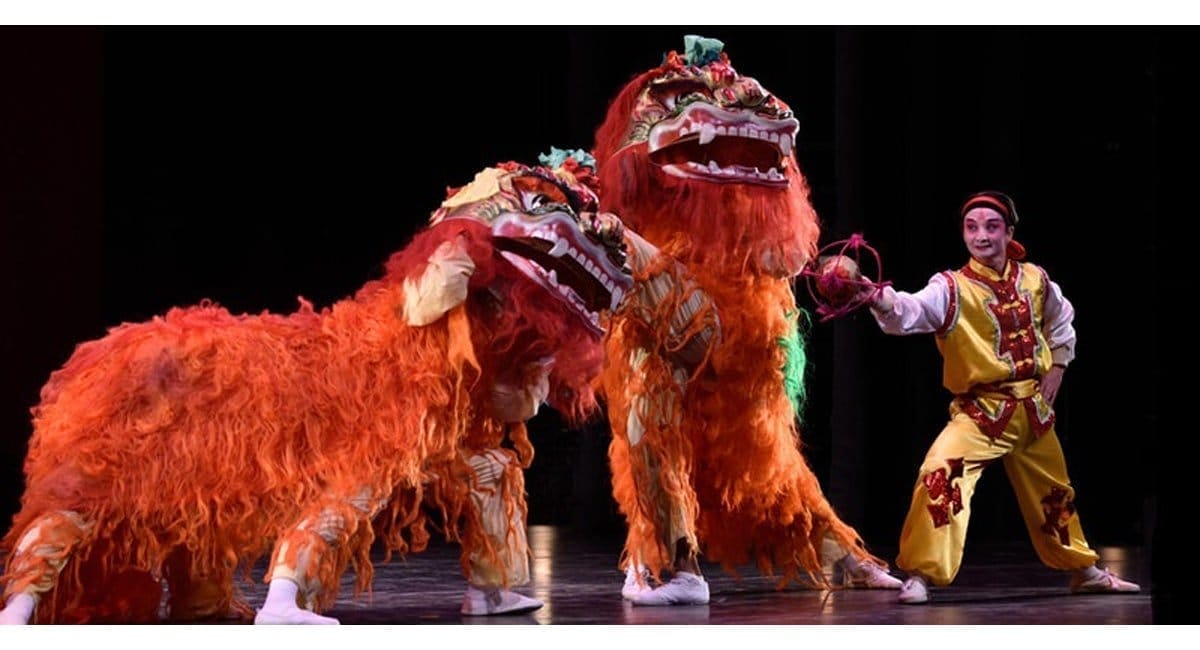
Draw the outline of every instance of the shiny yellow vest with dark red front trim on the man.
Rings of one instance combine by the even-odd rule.
[[[955,395],[980,384],[1032,379],[1054,363],[1042,332],[1045,271],[1009,260],[1001,276],[974,259],[943,272],[950,305],[937,331],[942,384]]]

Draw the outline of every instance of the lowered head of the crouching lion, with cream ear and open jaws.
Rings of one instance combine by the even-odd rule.
[[[406,299],[432,296],[416,321],[406,303],[409,323],[467,302],[485,384],[582,419],[595,409],[605,312],[634,279],[620,219],[598,212],[592,157],[556,149],[540,162],[499,163],[449,189],[388,276],[406,283]],[[446,289],[455,283],[461,293]]]

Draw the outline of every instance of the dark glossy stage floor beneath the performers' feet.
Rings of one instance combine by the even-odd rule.
[[[1026,540],[972,546],[958,579],[925,606],[902,606],[895,591],[826,591],[788,586],[746,567],[733,578],[706,565],[712,601],[692,607],[634,607],[620,597],[619,540],[532,526],[533,580],[518,588],[546,606],[515,616],[463,616],[458,547],[432,546],[377,564],[371,595],[350,596],[353,576],[329,615],[342,624],[426,625],[1144,625],[1152,622],[1150,559],[1142,548],[1102,547],[1106,566],[1142,586],[1133,595],[1070,595],[1067,576],[1043,566]],[[890,549],[876,549],[890,560]],[[256,572],[256,574],[260,574]],[[265,589],[252,588],[260,603]]]

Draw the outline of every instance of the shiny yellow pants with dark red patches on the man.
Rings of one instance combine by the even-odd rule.
[[[950,421],[925,455],[912,492],[896,558],[901,570],[936,585],[954,580],[962,564],[971,495],[983,468],[996,458],[1004,461],[1030,538],[1046,566],[1084,568],[1098,559],[1079,524],[1058,437],[1054,428],[1036,437],[1025,403],[1013,402],[1016,410],[995,438],[985,435],[958,404],[950,407]]]

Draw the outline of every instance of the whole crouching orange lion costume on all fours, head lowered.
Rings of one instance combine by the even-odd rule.
[[[512,532],[470,524],[488,507],[472,493],[499,490],[523,526],[522,421],[547,398],[594,408],[598,313],[631,285],[620,224],[594,201],[570,169],[500,164],[353,299],[288,315],[202,303],[79,345],[34,409],[0,618],[152,621],[163,584],[170,619],[246,613],[235,572],[276,540],[268,598],[282,580],[292,609],[328,608],[349,565],[370,585],[376,531],[424,546],[422,500],[472,573],[506,582]]]

